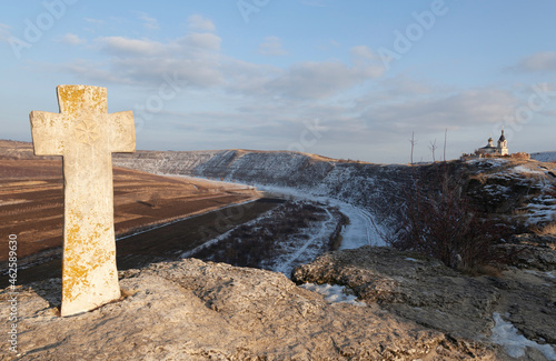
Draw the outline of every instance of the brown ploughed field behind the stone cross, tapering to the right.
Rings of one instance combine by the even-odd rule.
[[[117,235],[260,198],[242,185],[122,168],[113,178]],[[0,262],[8,259],[9,234],[17,235],[18,259],[62,245],[62,182],[61,160],[0,158]]]

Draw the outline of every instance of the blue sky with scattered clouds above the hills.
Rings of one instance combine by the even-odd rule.
[[[553,0],[0,0],[0,139],[108,89],[141,150],[407,163],[556,150]],[[414,136],[413,136],[414,134]],[[446,137],[446,138],[445,138]],[[435,149],[435,152],[431,151]]]

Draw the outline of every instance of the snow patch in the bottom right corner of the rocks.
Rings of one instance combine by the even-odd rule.
[[[517,333],[517,329],[504,321],[498,312],[493,313],[495,325],[492,329],[494,343],[504,347],[504,351],[512,358],[520,358],[525,354],[525,348],[540,351],[548,360],[556,360],[556,351],[550,344],[538,344]]]

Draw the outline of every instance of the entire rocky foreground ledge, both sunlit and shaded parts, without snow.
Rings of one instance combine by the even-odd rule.
[[[297,282],[345,284],[366,302],[348,304],[280,273],[186,259],[120,272],[122,300],[70,318],[58,315],[61,284],[52,279],[18,289],[19,354],[0,358],[505,360],[490,341],[493,312],[507,312],[532,340],[556,341],[549,274],[468,278],[385,248],[328,253],[294,272]],[[10,298],[0,293],[2,304]],[[522,360],[546,359],[526,351]]]

